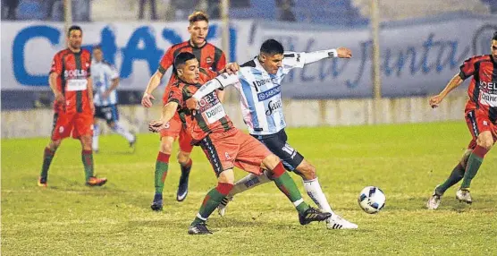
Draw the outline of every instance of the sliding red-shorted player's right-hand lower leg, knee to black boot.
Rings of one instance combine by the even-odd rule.
[[[275,155],[269,155],[263,160],[263,165],[269,169],[269,173],[278,189],[288,197],[299,212],[299,222],[301,225],[306,225],[312,221],[322,221],[332,216],[330,212],[322,212],[321,210],[310,207],[302,199],[299,188],[297,188],[291,176],[285,171],[280,158]]]

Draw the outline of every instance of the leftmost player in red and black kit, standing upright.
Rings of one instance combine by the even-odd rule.
[[[90,76],[91,55],[81,49],[83,31],[72,26],[67,31],[68,47],[54,56],[48,83],[54,91],[54,128],[51,141],[45,148],[43,166],[38,179],[39,186],[45,186],[48,180],[48,168],[55,151],[64,138],[81,141],[81,160],[85,169],[86,184],[100,186],[107,182],[93,174],[93,152],[91,136],[93,126],[93,90]]]

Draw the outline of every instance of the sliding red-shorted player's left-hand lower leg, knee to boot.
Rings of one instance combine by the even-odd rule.
[[[232,169],[224,170],[218,178],[217,186],[206,194],[198,209],[197,217],[193,220],[188,230],[190,235],[208,235],[212,234],[206,227],[206,220],[221,203],[224,197],[233,188],[234,174]]]

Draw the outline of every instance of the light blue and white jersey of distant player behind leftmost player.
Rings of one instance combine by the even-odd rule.
[[[119,73],[115,70],[114,66],[105,61],[91,62],[91,79],[93,80],[93,103],[95,106],[108,106],[117,104],[117,92],[113,90],[109,97],[102,98],[105,90],[111,88],[112,81],[119,78]]]

